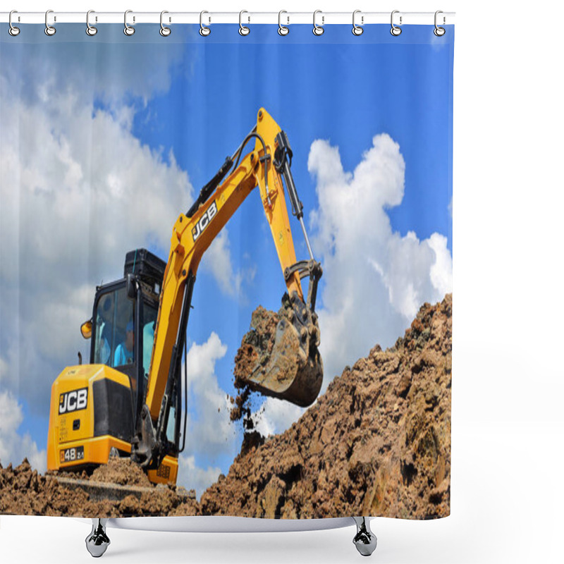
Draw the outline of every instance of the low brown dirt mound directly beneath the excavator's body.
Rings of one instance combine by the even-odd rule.
[[[63,472],[58,477],[49,472],[44,476],[38,474],[27,459],[16,468],[0,466],[0,513],[130,517],[197,515],[199,511],[188,491],[176,486],[154,486],[129,459],[111,458],[90,477],[86,472]],[[104,483],[118,484],[114,496],[101,494],[104,489],[98,484]],[[123,496],[120,490],[125,488],[133,493]]]

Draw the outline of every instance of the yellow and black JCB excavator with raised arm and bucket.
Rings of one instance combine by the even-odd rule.
[[[253,140],[254,148],[243,154]],[[48,470],[89,470],[120,456],[137,463],[154,484],[176,484],[186,441],[182,367],[184,357],[187,369],[186,331],[197,269],[257,187],[286,283],[286,316],[278,321],[269,357],[245,384],[302,407],[314,402],[323,380],[315,313],[322,269],[307,238],[292,157],[288,136],[260,109],[255,127],[176,219],[168,262],[145,249],[133,250],[125,256],[123,278],[97,286],[92,318],[80,327],[91,340],[90,364],[82,364],[79,353],[79,364],[63,369],[51,387]],[[300,221],[309,259],[296,259],[286,197]],[[307,295],[302,278],[309,278]]]

